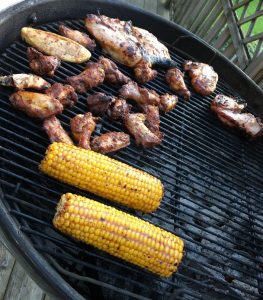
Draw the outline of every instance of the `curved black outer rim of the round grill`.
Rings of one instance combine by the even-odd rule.
[[[57,9],[59,10],[57,15],[52,14],[43,14],[43,16],[39,15],[39,22],[40,23],[47,23],[50,21],[55,21],[57,19],[65,18],[65,19],[72,19],[72,18],[80,18],[83,17],[83,9],[81,10],[75,10],[74,13],[72,12],[72,9],[66,9],[65,7],[69,7],[72,5],[73,1],[57,1],[57,0],[33,0],[33,1],[24,1],[20,4],[17,4],[13,6],[12,8],[7,9],[6,11],[3,11],[0,14],[0,36],[3,37],[4,43],[2,43],[3,49],[9,46],[11,42],[13,42],[16,38],[16,31],[13,31],[13,33],[10,33],[8,35],[8,31],[14,30],[12,26],[16,26],[16,28],[20,28],[25,24],[28,24],[28,17],[32,17],[32,13],[40,9],[39,7],[43,9],[48,9],[48,7],[54,7],[57,4]],[[117,2],[117,3],[116,3]],[[87,5],[87,1],[84,0],[77,0],[74,1],[73,6],[74,7],[81,7],[81,4]],[[195,49],[194,55],[197,54],[197,48],[200,50],[202,49],[202,52],[200,53],[200,60],[207,61],[210,64],[213,64],[214,66],[222,66],[222,63],[224,66],[226,66],[226,69],[230,68],[227,72],[227,74],[230,74],[231,80],[229,80],[230,84],[233,85],[235,88],[236,83],[231,82],[233,81],[233,77],[237,78],[238,83],[243,83],[244,85],[244,92],[247,93],[249,91],[252,91],[252,93],[249,93],[248,96],[243,96],[248,100],[248,102],[251,104],[251,106],[254,107],[254,109],[258,110],[258,112],[263,112],[263,106],[258,107],[257,99],[260,100],[263,96],[263,92],[258,88],[257,85],[251,79],[249,79],[242,71],[240,71],[238,68],[236,68],[234,65],[232,65],[227,59],[225,59],[221,54],[219,54],[216,50],[209,47],[207,44],[205,44],[202,40],[195,37],[188,31],[184,30],[180,26],[173,24],[171,22],[168,22],[161,17],[155,16],[151,13],[147,13],[139,8],[133,7],[129,4],[124,4],[122,2],[118,1],[89,1],[88,5],[90,5],[89,10],[94,10],[96,7],[104,7],[105,11],[109,9],[110,7],[114,6],[117,11],[121,11],[122,14],[121,17],[127,16],[127,18],[132,18],[136,24],[140,21],[140,16],[144,15],[145,19],[144,21],[150,22],[150,24],[154,24],[153,22],[156,22],[156,28],[154,30],[159,31],[159,26],[167,26],[169,30],[167,30],[166,33],[164,33],[164,36],[162,36],[162,39],[167,41],[170,44],[175,44],[176,47],[181,47],[185,49],[189,49],[187,45],[191,45],[190,48]],[[108,15],[110,15],[109,13]],[[117,13],[116,13],[117,14]],[[62,17],[63,16],[63,17]],[[19,18],[19,22],[16,22],[13,18]],[[31,18],[32,20],[32,18]],[[12,25],[11,25],[12,24]],[[143,26],[143,25],[141,25]],[[147,26],[144,26],[147,28]],[[153,33],[154,30],[151,30]],[[174,32],[173,36],[176,35],[182,35],[182,39],[176,39],[176,41],[171,40],[171,32]],[[7,37],[7,38],[6,38]],[[5,39],[6,38],[6,39]],[[196,47],[197,46],[197,47]],[[3,50],[3,49],[0,49]],[[190,51],[191,52],[191,51]],[[189,53],[191,55],[191,53]],[[230,71],[231,70],[231,71]],[[232,74],[238,74],[238,76],[231,76]],[[226,78],[226,74],[224,74],[224,77]],[[242,94],[242,91],[240,92]],[[252,101],[255,99],[255,103]],[[251,101],[250,101],[251,100]],[[260,108],[260,109],[259,109]],[[263,115],[263,114],[262,114]],[[1,190],[0,190],[1,192]],[[15,256],[18,258],[18,260],[22,263],[23,266],[30,272],[31,276],[36,279],[36,281],[40,284],[40,286],[47,290],[49,293],[54,294],[55,296],[59,298],[67,298],[67,299],[84,299],[80,294],[78,294],[70,285],[68,285],[64,279],[58,274],[58,272],[51,267],[49,263],[47,263],[47,260],[34,249],[31,242],[27,239],[27,237],[24,235],[21,228],[14,222],[10,215],[10,211],[8,210],[8,207],[5,207],[3,205],[4,195],[0,193],[0,223],[1,223],[1,229],[3,230],[3,235],[5,237],[5,241],[8,245],[8,247],[11,249],[13,253],[15,253]],[[1,230],[0,229],[0,230]],[[22,251],[22,249],[24,251]],[[25,251],[26,249],[26,251]],[[45,278],[45,282],[43,282],[43,278]],[[57,284],[54,284],[57,283]],[[52,288],[51,288],[52,287]]]

